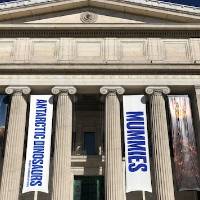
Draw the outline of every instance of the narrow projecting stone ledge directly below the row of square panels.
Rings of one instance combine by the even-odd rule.
[[[122,70],[123,69],[123,70]],[[67,72],[69,74],[73,73],[81,73],[81,74],[121,74],[123,73],[137,73],[137,74],[151,74],[151,73],[159,73],[159,74],[200,74],[200,64],[191,64],[191,63],[181,63],[181,64],[173,64],[173,63],[143,63],[143,64],[81,64],[81,63],[70,63],[70,64],[32,64],[32,63],[1,63],[0,64],[0,72],[5,73],[30,73],[34,72],[35,74],[43,74],[43,73],[64,73]]]

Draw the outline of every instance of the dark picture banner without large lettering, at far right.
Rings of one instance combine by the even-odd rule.
[[[168,99],[178,190],[200,190],[197,148],[189,97],[169,95]]]

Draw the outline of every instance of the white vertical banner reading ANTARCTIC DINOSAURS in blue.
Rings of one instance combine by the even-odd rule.
[[[30,191],[48,193],[52,98],[52,95],[31,95],[22,193]]]

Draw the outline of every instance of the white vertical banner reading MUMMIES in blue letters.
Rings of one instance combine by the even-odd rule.
[[[123,96],[126,192],[152,192],[146,104],[143,95]]]

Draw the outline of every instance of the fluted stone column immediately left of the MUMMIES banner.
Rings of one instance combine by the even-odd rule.
[[[105,199],[123,200],[123,165],[121,148],[120,102],[122,87],[102,87],[105,100]]]

